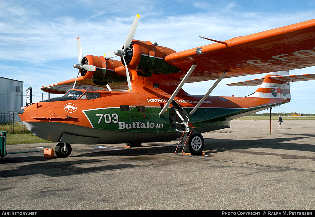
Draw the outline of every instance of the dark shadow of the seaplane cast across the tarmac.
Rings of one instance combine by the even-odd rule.
[[[281,134],[279,134],[280,136]],[[255,148],[265,149],[283,149],[283,150],[296,150],[296,151],[311,151],[315,152],[315,144],[297,144],[294,141],[303,138],[314,138],[313,134],[282,134],[290,135],[291,137],[279,137],[279,138],[253,138],[253,140],[242,140],[242,139],[221,139],[221,138],[205,138],[204,152],[211,157],[212,153],[229,151],[229,152],[240,152],[249,153],[253,155],[277,155],[286,159],[309,159],[315,161],[315,157],[299,156],[299,155],[288,155],[282,153],[269,153],[255,150]],[[76,150],[72,150],[73,153],[70,157],[66,158],[66,161],[60,161],[59,159],[44,159],[43,155],[33,156],[22,156],[22,157],[10,157],[6,156],[0,159],[0,163],[5,164],[20,163],[25,164],[27,162],[33,162],[31,164],[14,166],[9,169],[2,169],[0,171],[1,178],[21,177],[28,175],[46,175],[49,177],[60,177],[69,176],[74,174],[94,173],[108,170],[116,170],[122,168],[139,167],[132,163],[119,163],[108,165],[107,160],[104,159],[87,159],[87,160],[76,160],[78,157],[106,157],[106,156],[130,156],[135,160],[145,160],[145,155],[157,155],[157,154],[173,154],[175,153],[177,142],[173,144],[144,144],[140,148],[129,148],[129,149],[115,149],[115,150],[101,150],[91,151],[90,149],[81,150],[81,153],[87,151],[87,153],[76,155]],[[177,150],[180,154],[182,149]],[[70,159],[69,159],[70,158]],[[130,159],[131,159],[130,158]],[[138,159],[139,158],[139,159]],[[141,158],[141,159],[140,159]],[[142,159],[143,158],[143,159]],[[48,162],[49,161],[49,162]],[[106,162],[106,163],[102,163]],[[93,165],[93,164],[96,164]],[[80,165],[90,164],[90,167],[80,167]],[[107,165],[104,165],[107,164]],[[1,189],[0,189],[1,191]]]

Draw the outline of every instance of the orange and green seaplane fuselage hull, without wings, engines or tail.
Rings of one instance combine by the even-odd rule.
[[[72,91],[72,93],[71,93]],[[70,93],[69,93],[70,92]],[[209,96],[188,115],[203,96],[179,94],[163,115],[170,95],[71,89],[65,96],[33,103],[21,110],[21,120],[40,138],[72,144],[172,141],[184,126],[175,113],[200,133],[230,127],[230,120],[288,100]]]

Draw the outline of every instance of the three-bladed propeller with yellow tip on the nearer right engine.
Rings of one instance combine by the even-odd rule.
[[[116,57],[116,56],[120,56],[123,59],[123,62],[125,63],[125,67],[126,67],[126,77],[127,77],[128,87],[129,87],[130,91],[131,91],[131,83],[130,83],[129,71],[128,71],[128,67],[127,67],[127,63],[126,63],[125,57],[128,54],[127,50],[129,49],[129,47],[131,45],[131,42],[132,42],[132,39],[135,36],[135,32],[136,32],[136,29],[137,29],[139,18],[140,18],[140,15],[137,14],[136,17],[135,17],[135,20],[133,21],[133,23],[132,23],[132,25],[130,27],[130,30],[129,30],[128,35],[127,35],[127,38],[126,38],[125,43],[123,45],[123,49],[122,50],[115,50],[115,51],[107,52],[107,53],[104,54],[105,58],[113,58],[113,57]]]

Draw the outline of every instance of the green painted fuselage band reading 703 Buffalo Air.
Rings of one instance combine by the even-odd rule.
[[[233,115],[242,114],[266,106],[253,108],[198,108],[195,114],[189,116],[189,122],[200,128],[218,125],[217,121]],[[184,108],[189,113],[192,108]],[[98,108],[84,110],[92,126],[96,129],[124,132],[174,132],[169,124],[169,114],[162,117],[158,114],[161,108],[146,107],[146,112],[137,112],[135,107],[122,112],[120,107]],[[226,123],[225,123],[226,124]],[[163,130],[160,129],[162,128]]]

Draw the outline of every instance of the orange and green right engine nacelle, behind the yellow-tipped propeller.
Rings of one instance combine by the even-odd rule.
[[[125,59],[128,68],[137,71],[138,75],[174,74],[181,71],[164,61],[164,57],[175,53],[175,50],[153,45],[149,41],[133,40],[131,44],[132,46],[126,51]]]

